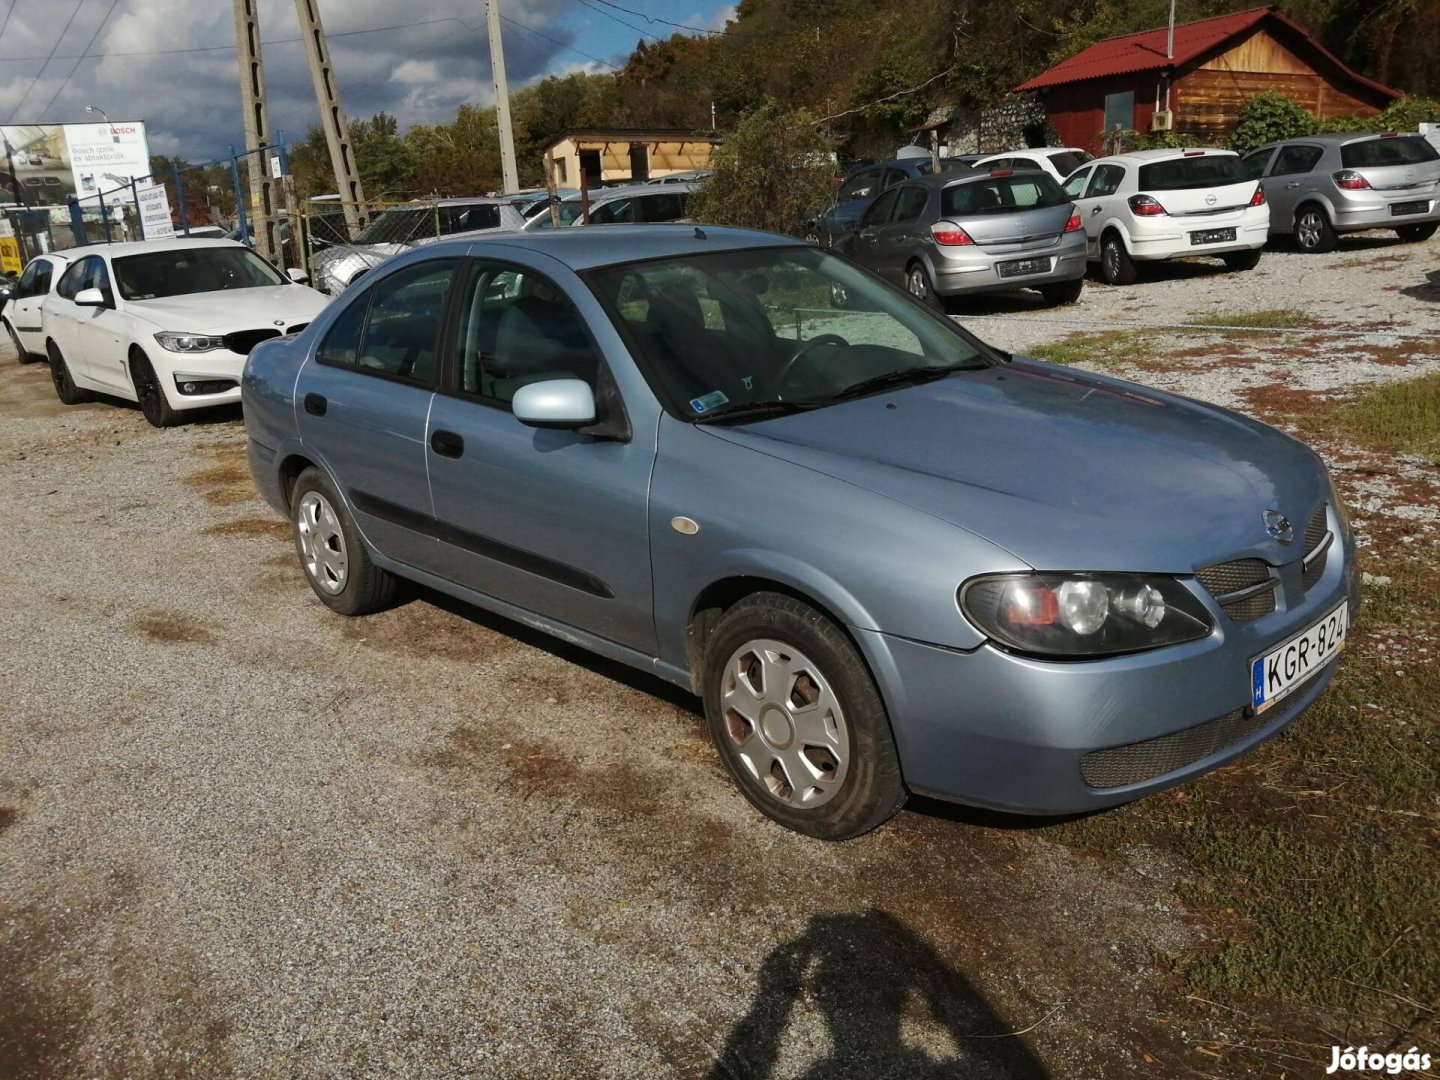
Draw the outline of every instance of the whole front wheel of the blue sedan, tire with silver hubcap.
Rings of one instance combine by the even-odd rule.
[[[701,688],[726,769],[772,821],[851,840],[904,805],[874,680],[845,634],[808,603],[762,592],[734,605],[706,647]]]

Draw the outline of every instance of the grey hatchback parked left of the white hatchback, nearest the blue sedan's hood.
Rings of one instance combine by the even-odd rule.
[[[909,180],[876,199],[837,249],[932,307],[1018,288],[1073,304],[1084,288],[1080,216],[1040,170]]]

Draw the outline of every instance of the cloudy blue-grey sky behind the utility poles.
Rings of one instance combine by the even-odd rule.
[[[383,109],[403,128],[492,104],[484,0],[318,1],[348,115]],[[608,71],[641,32],[672,32],[651,17],[719,27],[733,10],[724,0],[501,0],[507,73],[518,86]],[[292,0],[261,0],[261,33],[272,134],[298,138],[318,112]],[[112,121],[145,121],[151,153],[204,161],[243,143],[233,46],[226,0],[0,0],[0,122],[86,121],[95,105]]]

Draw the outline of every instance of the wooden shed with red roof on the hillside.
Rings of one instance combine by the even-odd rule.
[[[1346,68],[1274,7],[1096,42],[1017,91],[1044,102],[1063,145],[1099,151],[1104,132],[1176,131],[1223,143],[1257,94],[1319,117],[1377,115],[1397,91]]]

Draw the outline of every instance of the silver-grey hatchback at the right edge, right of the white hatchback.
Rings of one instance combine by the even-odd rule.
[[[1394,229],[1417,242],[1440,228],[1440,153],[1420,135],[1289,138],[1243,164],[1263,177],[1270,233],[1293,236],[1300,251],[1332,251],[1345,232]]]

